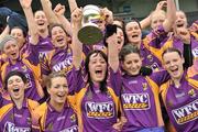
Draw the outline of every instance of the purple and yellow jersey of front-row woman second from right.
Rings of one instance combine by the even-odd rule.
[[[164,76],[163,76],[164,75]],[[120,86],[120,100],[127,122],[122,132],[134,132],[147,128],[163,127],[160,106],[160,85],[166,81],[168,74],[157,72],[150,77],[121,75],[114,73],[114,86]]]

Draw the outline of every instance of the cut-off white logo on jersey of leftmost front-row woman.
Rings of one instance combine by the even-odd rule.
[[[15,127],[15,124],[11,122],[7,122],[4,124],[3,132],[31,132],[30,128]]]

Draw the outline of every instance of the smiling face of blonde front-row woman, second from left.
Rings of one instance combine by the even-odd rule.
[[[51,103],[64,105],[68,95],[68,85],[65,77],[53,77],[51,79],[51,87],[47,88],[51,96]]]

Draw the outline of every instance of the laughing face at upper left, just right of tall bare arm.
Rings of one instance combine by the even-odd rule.
[[[37,25],[38,31],[47,30],[47,19],[43,11],[36,11],[34,14],[34,21]]]

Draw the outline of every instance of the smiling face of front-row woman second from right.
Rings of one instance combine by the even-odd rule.
[[[138,53],[130,53],[124,56],[122,68],[132,76],[139,75],[142,67],[142,58]]]

